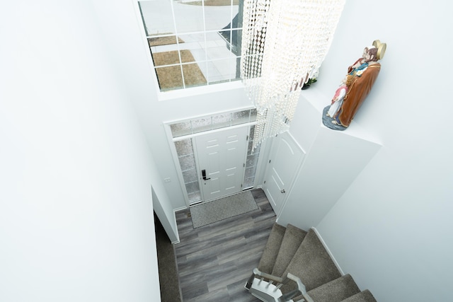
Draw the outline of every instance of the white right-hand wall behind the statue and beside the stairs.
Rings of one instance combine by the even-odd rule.
[[[377,301],[451,300],[451,10],[441,1],[348,0],[315,84],[330,98],[363,47],[387,43],[355,116],[383,147],[315,225],[343,270]],[[291,129],[294,137],[303,131]],[[335,168],[326,185],[333,175]]]

